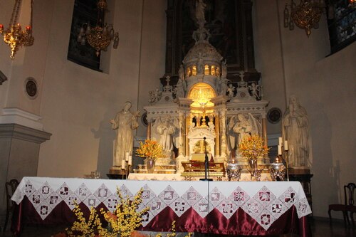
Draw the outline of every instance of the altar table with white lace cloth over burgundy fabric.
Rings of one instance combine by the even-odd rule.
[[[122,196],[141,188],[142,205],[150,206],[141,230],[231,235],[309,236],[310,206],[296,181],[137,181],[24,177],[12,200],[18,204],[11,229],[23,223],[73,223],[75,203],[115,210]],[[87,209],[87,211],[88,211]]]

